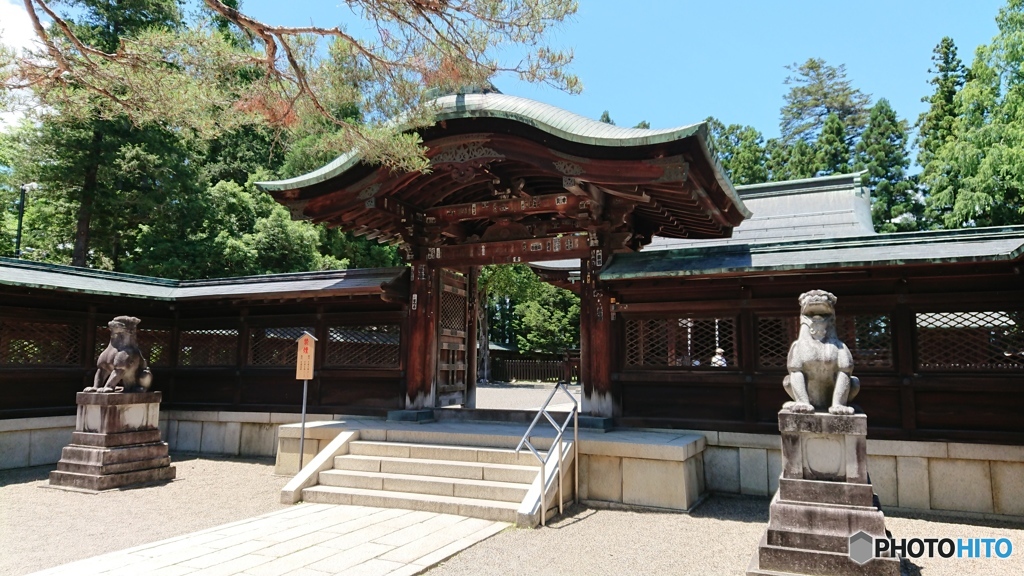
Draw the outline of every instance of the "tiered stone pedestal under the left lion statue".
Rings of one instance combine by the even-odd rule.
[[[50,472],[50,486],[100,491],[174,479],[160,440],[159,392],[80,392],[77,400],[71,445]]]

